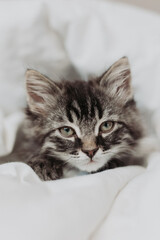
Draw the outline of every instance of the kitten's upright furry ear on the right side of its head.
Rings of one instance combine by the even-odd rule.
[[[127,57],[115,62],[100,79],[100,86],[118,101],[126,103],[133,99],[131,71]]]

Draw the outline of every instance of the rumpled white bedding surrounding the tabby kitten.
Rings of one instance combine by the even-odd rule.
[[[86,79],[124,55],[159,146],[159,26],[160,16],[111,2],[1,1],[0,154],[23,119],[26,68],[57,79],[72,64]],[[160,147],[148,161],[50,182],[23,163],[0,165],[0,239],[159,240]]]

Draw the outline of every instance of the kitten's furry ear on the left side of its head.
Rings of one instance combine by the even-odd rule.
[[[49,106],[54,103],[59,87],[50,79],[35,70],[26,71],[27,101],[30,110],[46,115]]]

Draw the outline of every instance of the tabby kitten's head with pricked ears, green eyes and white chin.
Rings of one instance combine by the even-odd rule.
[[[57,83],[28,70],[26,83],[28,115],[43,136],[42,154],[87,172],[133,154],[142,127],[126,57],[88,82]]]

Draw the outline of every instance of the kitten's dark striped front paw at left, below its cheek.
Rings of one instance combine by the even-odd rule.
[[[62,166],[58,165],[54,160],[49,161],[36,157],[28,161],[27,164],[43,181],[56,180],[62,177]]]

